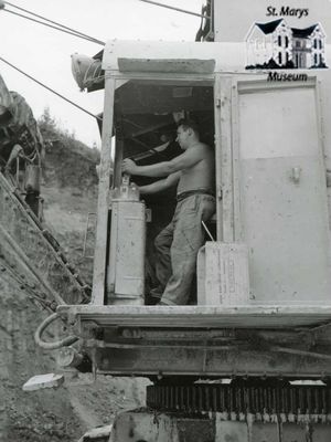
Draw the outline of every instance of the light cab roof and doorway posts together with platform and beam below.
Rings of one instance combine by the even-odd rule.
[[[105,305],[109,187],[111,175],[113,183],[119,182],[122,159],[122,145],[113,145],[111,122],[118,85],[134,80],[214,86],[217,241],[224,243],[242,239],[237,135],[233,130],[237,124],[239,92],[244,90],[250,93],[264,87],[276,91],[284,87],[316,87],[320,107],[316,78],[309,77],[308,82],[297,82],[295,85],[269,84],[265,74],[257,76],[241,72],[235,67],[241,61],[234,60],[232,54],[222,43],[109,42],[106,46],[92,303],[60,306],[57,309],[63,318],[68,318],[73,332],[81,336],[82,348],[92,358],[95,371],[192,379],[229,376],[328,379],[331,376],[331,304]],[[239,51],[237,57],[241,59]],[[319,143],[322,148],[320,119]]]

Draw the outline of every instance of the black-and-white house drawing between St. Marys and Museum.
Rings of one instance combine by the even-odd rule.
[[[255,22],[246,36],[246,69],[327,67],[325,38],[320,23],[298,29],[284,19]]]

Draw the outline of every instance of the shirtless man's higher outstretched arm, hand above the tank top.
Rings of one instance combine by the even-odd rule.
[[[122,161],[122,171],[140,177],[167,177],[170,173],[192,167],[202,159],[204,159],[204,151],[202,145],[197,145],[197,147],[188,149],[171,161],[162,161],[156,165],[137,166],[135,161],[126,158]]]

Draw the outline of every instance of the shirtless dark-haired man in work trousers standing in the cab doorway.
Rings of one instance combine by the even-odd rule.
[[[184,150],[171,161],[137,166],[122,161],[122,171],[143,177],[167,177],[139,187],[140,193],[156,193],[178,185],[174,215],[156,238],[156,272],[160,282],[160,305],[185,305],[195,273],[199,249],[204,243],[202,221],[215,212],[214,151],[200,141],[194,122],[182,119],[177,141]]]

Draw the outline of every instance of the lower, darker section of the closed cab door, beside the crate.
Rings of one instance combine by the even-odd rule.
[[[318,161],[297,157],[243,162],[244,228],[255,302],[328,302],[328,225],[319,217],[321,194],[311,186],[321,177]],[[300,186],[290,183],[295,168],[302,170]]]

